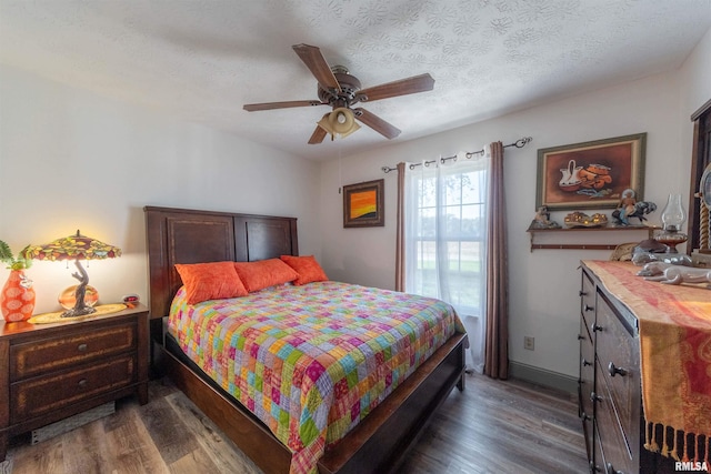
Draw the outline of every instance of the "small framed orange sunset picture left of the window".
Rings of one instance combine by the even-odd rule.
[[[385,224],[383,191],[385,180],[343,186],[343,226],[372,228]]]

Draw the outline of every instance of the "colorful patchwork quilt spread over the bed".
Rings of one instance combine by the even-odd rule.
[[[292,474],[317,472],[328,445],[464,332],[442,301],[331,281],[194,305],[181,289],[168,327],[291,450]]]

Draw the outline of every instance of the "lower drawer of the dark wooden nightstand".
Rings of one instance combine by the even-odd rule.
[[[43,415],[137,381],[136,357],[127,354],[10,386],[10,423]]]

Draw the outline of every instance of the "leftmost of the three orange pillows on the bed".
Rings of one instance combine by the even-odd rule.
[[[188,304],[249,294],[233,262],[176,263],[176,270],[186,286]]]

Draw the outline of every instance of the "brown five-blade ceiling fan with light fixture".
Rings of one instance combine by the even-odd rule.
[[[309,44],[294,44],[292,48],[318,81],[319,99],[248,103],[243,109],[254,112],[292,107],[330,105],[332,111],[324,114],[318,122],[313,134],[309,139],[310,144],[321,143],[329,133],[331,139],[336,134],[347,137],[360,128],[356,123],[356,119],[384,138],[393,139],[400,134],[398,128],[363,108],[352,109],[351,105],[359,102],[372,102],[391,97],[431,91],[434,87],[434,79],[425,73],[361,89],[358,78],[351,75],[347,68],[342,65],[329,67],[319,48]]]

